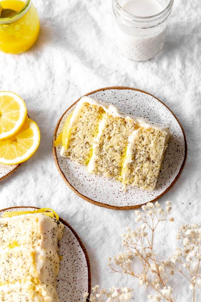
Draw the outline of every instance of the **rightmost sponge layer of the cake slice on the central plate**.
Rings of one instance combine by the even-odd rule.
[[[127,148],[122,175],[124,183],[146,190],[155,188],[168,138],[163,130],[143,127],[136,130]]]

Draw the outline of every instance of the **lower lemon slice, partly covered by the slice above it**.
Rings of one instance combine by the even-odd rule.
[[[17,165],[29,159],[39,146],[40,131],[37,124],[27,117],[21,130],[13,137],[0,141],[0,162]]]

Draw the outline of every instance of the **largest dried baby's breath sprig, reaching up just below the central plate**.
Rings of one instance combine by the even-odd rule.
[[[175,302],[173,290],[168,285],[168,278],[174,274],[171,260],[161,261],[157,259],[154,251],[154,234],[157,226],[165,220],[174,221],[169,218],[171,213],[171,202],[166,201],[165,209],[156,201],[155,204],[147,203],[142,206],[142,211],[135,211],[135,222],[140,225],[131,230],[126,229],[123,236],[124,252],[113,259],[109,258],[109,267],[113,272],[122,272],[138,278],[140,286],[145,285],[156,291],[157,294],[149,295],[150,301],[161,301],[164,299]],[[137,272],[133,265],[133,258],[137,258],[141,263],[141,271]],[[201,285],[201,279],[200,279]]]

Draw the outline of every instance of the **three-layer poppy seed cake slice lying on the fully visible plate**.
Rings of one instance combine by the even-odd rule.
[[[154,190],[169,137],[169,126],[84,96],[67,117],[60,153],[90,173]]]

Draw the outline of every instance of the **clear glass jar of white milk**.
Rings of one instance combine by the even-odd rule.
[[[146,61],[162,48],[174,0],[112,0],[115,42],[121,54]]]

